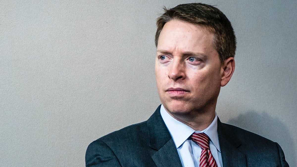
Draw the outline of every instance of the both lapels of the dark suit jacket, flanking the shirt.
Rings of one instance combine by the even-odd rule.
[[[176,146],[161,117],[160,107],[147,120],[149,146],[156,150],[152,159],[158,167],[182,167]],[[218,136],[223,166],[247,166],[246,156],[239,151],[241,141],[218,118]]]

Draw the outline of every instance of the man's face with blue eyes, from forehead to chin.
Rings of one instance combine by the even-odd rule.
[[[223,68],[213,40],[203,26],[172,20],[163,27],[155,73],[160,100],[170,114],[215,110]]]

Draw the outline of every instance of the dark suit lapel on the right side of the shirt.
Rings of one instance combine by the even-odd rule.
[[[223,166],[247,166],[246,156],[238,149],[241,142],[232,132],[228,132],[219,119],[218,134]]]

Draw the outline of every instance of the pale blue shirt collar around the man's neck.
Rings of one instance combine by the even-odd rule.
[[[211,122],[211,124],[202,131],[195,131],[188,125],[179,122],[175,118],[173,118],[168,112],[165,110],[164,106],[161,105],[160,113],[162,116],[162,119],[165,122],[165,125],[167,126],[170,135],[172,136],[172,139],[176,145],[176,148],[181,146],[191,135],[192,133],[205,133],[209,138],[210,141],[216,146],[217,150],[221,152],[219,147],[219,136],[217,133],[218,129],[218,118],[217,113],[215,113],[214,120]]]

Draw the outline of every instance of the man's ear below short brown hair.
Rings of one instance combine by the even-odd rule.
[[[234,57],[229,57],[222,64],[221,69],[221,86],[227,85],[235,69]]]

